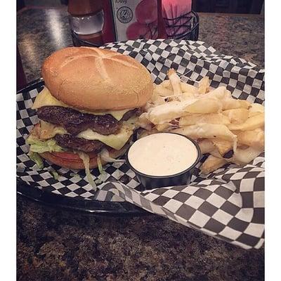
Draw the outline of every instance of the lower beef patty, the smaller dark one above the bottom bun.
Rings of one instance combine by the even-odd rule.
[[[55,135],[55,142],[62,148],[80,150],[84,152],[100,152],[105,147],[100,141],[90,141],[85,138],[77,138],[73,135]]]

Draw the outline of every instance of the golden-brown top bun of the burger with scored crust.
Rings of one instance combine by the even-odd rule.
[[[138,61],[103,48],[69,47],[50,55],[42,76],[51,94],[79,110],[125,110],[151,98],[152,79]]]

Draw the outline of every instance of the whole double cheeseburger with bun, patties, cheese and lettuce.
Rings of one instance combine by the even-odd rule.
[[[27,138],[32,159],[89,171],[124,154],[153,91],[141,63],[107,49],[70,47],[46,58],[42,77],[32,106],[39,123]]]

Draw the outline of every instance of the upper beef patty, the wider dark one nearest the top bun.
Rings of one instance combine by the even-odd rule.
[[[138,109],[126,112],[122,120],[128,120],[133,115],[140,114]],[[39,119],[63,126],[68,133],[77,135],[86,129],[92,129],[102,135],[110,135],[119,130],[122,122],[112,115],[91,115],[81,113],[72,108],[61,106],[43,106],[37,110]]]

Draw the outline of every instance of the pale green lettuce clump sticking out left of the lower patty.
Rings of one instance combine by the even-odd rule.
[[[30,135],[27,138],[26,143],[30,145],[30,152],[43,153],[64,151],[63,148],[55,143],[55,140],[53,138],[46,141],[40,141],[38,138]]]

